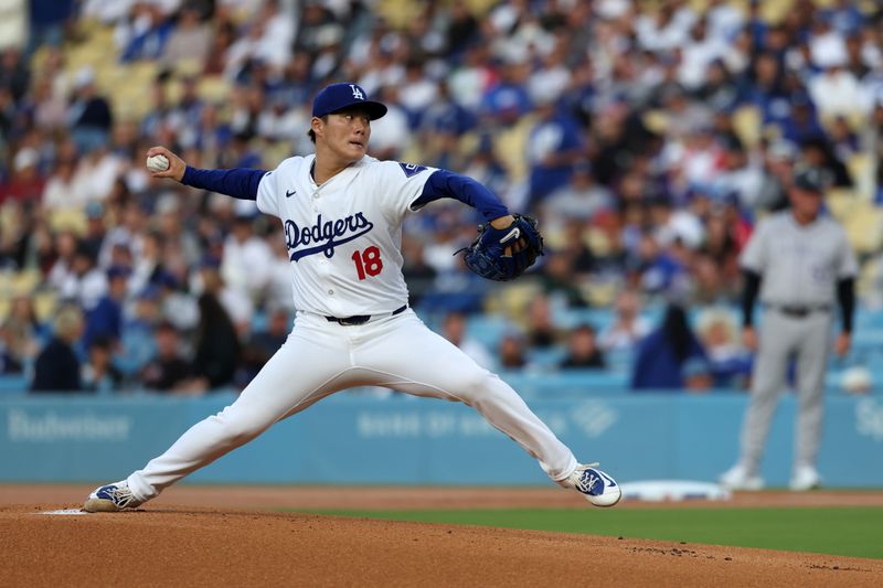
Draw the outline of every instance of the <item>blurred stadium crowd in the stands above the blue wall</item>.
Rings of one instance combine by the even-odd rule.
[[[489,367],[610,370],[625,354],[637,388],[744,387],[737,258],[787,205],[795,165],[827,168],[862,211],[883,202],[875,2],[29,6],[0,57],[0,372],[35,391],[201,394],[254,375],[294,311],[280,226],[151,179],[145,152],[273,169],[311,152],[309,107],[329,82],[389,105],[374,157],[471,175],[541,220],[547,254],[502,289],[454,255],[472,210],[436,203],[406,225],[412,306]],[[96,35],[97,58],[68,63]],[[880,240],[860,253],[872,267]],[[604,324],[583,320],[597,308]],[[520,329],[470,338],[494,312]],[[689,349],[641,363],[672,331]]]

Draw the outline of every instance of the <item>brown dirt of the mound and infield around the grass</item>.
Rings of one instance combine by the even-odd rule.
[[[40,514],[77,507],[88,490],[0,485],[0,586],[883,585],[875,559],[268,512],[586,507],[556,489],[178,487],[136,512]],[[881,493],[821,492],[737,495],[721,505],[842,505],[847,498],[883,504]]]

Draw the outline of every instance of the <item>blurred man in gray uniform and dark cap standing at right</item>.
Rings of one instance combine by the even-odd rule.
[[[790,210],[762,221],[742,254],[744,342],[757,354],[741,456],[720,479],[734,490],[764,485],[760,458],[791,359],[797,361],[799,407],[790,488],[810,490],[821,482],[816,458],[834,297],[842,311],[834,351],[842,356],[850,346],[858,271],[845,232],[837,221],[820,214],[826,185],[821,170],[798,169],[788,194]],[[758,291],[765,310],[759,345],[752,321]]]

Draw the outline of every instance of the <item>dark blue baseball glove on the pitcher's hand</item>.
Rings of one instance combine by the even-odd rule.
[[[512,216],[515,221],[507,228],[493,228],[490,223],[479,225],[476,240],[460,249],[466,252],[466,266],[482,278],[513,280],[533,265],[538,255],[543,255],[543,236],[536,220]]]

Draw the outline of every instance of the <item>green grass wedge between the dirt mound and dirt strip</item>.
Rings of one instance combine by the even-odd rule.
[[[315,511],[883,559],[883,507]]]

